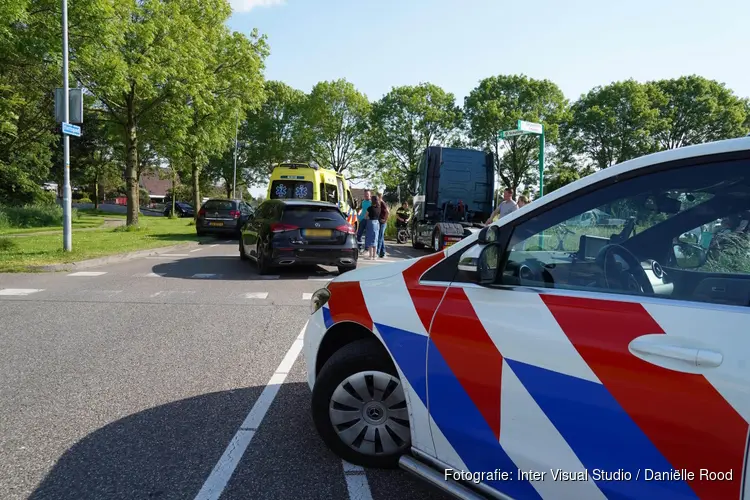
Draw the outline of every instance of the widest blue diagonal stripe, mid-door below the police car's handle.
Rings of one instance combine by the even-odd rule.
[[[685,481],[648,480],[646,469],[661,472],[673,467],[602,384],[508,358],[505,362],[607,498],[698,498]],[[549,466],[565,470],[565,464]],[[624,471],[632,477],[597,478],[596,471]]]

